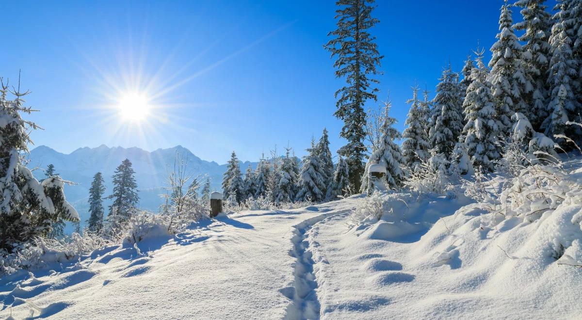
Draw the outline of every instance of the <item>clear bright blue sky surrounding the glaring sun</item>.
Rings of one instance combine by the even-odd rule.
[[[398,129],[415,81],[432,95],[449,59],[460,71],[478,40],[491,47],[502,4],[377,2],[378,98],[390,93]],[[324,127],[335,151],[344,141],[333,93],[343,80],[322,48],[335,9],[335,1],[10,1],[0,76],[14,84],[22,69],[27,102],[40,109],[29,119],[45,129],[33,140],[61,152],[180,144],[210,161],[224,163],[232,150],[256,161],[288,143],[303,155]],[[152,106],[140,122],[116,108],[130,93]]]

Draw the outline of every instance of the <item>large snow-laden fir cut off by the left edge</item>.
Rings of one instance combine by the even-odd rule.
[[[6,251],[17,243],[45,236],[59,218],[79,221],[65,200],[63,180],[52,176],[40,183],[24,166],[22,154],[32,142],[30,130],[37,126],[20,115],[31,109],[23,105],[27,93],[19,91],[18,86],[12,92],[15,99],[9,100],[8,84],[0,79],[0,250]]]

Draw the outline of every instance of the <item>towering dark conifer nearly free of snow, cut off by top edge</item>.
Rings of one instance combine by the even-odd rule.
[[[374,0],[339,0],[336,5],[335,19],[338,29],[328,35],[333,36],[324,48],[337,56],[333,64],[338,78],[345,77],[347,86],[336,91],[338,97],[335,116],[342,119],[344,126],[340,136],[346,138],[347,145],[342,147],[340,154],[346,157],[350,168],[350,182],[359,189],[360,178],[364,170],[364,104],[368,99],[377,100],[377,88],[372,84],[379,81],[370,76],[380,74],[377,66],[382,56],[379,55],[377,44],[368,30],[379,22],[372,18],[371,12]]]

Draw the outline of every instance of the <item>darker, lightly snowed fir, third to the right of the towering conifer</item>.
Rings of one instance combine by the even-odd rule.
[[[459,74],[449,66],[443,70],[437,95],[432,101],[432,122],[429,138],[437,153],[447,157],[455,147],[455,141],[463,130],[463,109],[460,101]]]

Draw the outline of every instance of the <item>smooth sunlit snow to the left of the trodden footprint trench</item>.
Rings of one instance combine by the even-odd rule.
[[[132,247],[109,247],[77,265],[37,273],[35,279],[1,279],[0,318],[10,314],[10,304],[15,305],[13,317],[29,315],[30,306],[18,298],[44,307],[43,317],[59,319],[301,318],[293,307],[301,304],[294,291],[304,290],[294,272],[294,226],[307,226],[353,205],[337,201],[288,211],[242,212],[173,239],[143,241],[141,255]]]

